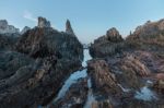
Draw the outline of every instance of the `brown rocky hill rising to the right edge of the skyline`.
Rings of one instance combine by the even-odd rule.
[[[163,51],[164,20],[147,22],[138,26],[133,34],[127,37],[127,43],[136,49],[149,51]]]

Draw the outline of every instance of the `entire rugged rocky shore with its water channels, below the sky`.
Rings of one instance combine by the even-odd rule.
[[[163,108],[163,43],[164,20],[127,38],[113,27],[89,49],[69,20],[0,31],[0,108]]]

